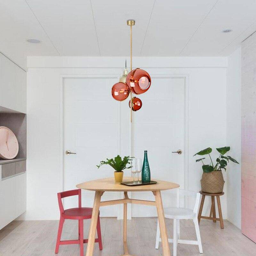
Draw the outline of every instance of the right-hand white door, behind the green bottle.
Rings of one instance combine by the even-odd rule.
[[[150,89],[138,97],[142,108],[134,114],[133,153],[143,162],[144,150],[148,150],[151,179],[166,180],[184,185],[185,123],[184,78],[152,77]],[[165,207],[174,206],[175,196],[163,191]],[[132,197],[155,200],[152,193],[133,193]],[[155,207],[132,204],[132,216],[157,216]]]

